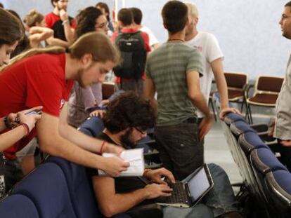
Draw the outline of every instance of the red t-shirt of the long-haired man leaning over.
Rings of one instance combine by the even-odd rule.
[[[43,106],[47,114],[60,115],[73,81],[65,80],[65,54],[41,54],[27,57],[0,74],[0,117],[23,109]],[[8,159],[15,158],[35,136],[35,132],[4,151]]]

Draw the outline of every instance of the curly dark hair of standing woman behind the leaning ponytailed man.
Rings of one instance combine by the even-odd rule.
[[[101,10],[92,6],[80,11],[76,17],[76,38],[79,38],[79,36],[82,36],[87,32],[95,31],[96,19],[101,15],[103,15]]]

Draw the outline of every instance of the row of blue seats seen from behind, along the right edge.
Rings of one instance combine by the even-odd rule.
[[[221,122],[243,184],[264,217],[291,217],[291,174],[245,119],[228,114]],[[260,216],[259,216],[260,217]]]

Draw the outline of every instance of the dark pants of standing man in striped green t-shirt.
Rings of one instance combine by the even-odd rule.
[[[185,179],[204,163],[197,123],[157,126],[155,138],[164,168],[170,170],[176,179]]]

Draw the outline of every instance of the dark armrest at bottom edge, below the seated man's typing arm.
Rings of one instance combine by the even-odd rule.
[[[141,205],[132,208],[126,212],[132,218],[162,218],[162,206],[155,203],[148,205]]]

